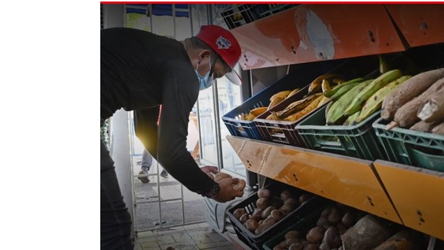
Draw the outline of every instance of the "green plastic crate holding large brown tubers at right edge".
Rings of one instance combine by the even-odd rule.
[[[444,172],[444,135],[385,126],[380,118],[373,123],[376,136],[391,162]]]

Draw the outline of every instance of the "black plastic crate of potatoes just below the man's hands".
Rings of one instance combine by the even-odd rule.
[[[277,197],[279,197],[280,193],[284,190],[292,192],[295,197],[299,197],[303,194],[311,194],[303,191],[302,189],[296,189],[293,186],[289,186],[281,182],[272,183],[265,188],[269,189],[272,192],[272,195],[275,195]],[[306,202],[302,206],[299,206],[291,213],[288,213],[288,215],[286,215],[282,220],[279,220],[279,222],[276,222],[276,224],[272,225],[272,227],[270,227],[268,230],[259,235],[255,235],[255,233],[252,233],[251,231],[246,229],[246,227],[244,227],[243,224],[234,217],[233,213],[236,209],[241,208],[245,209],[248,215],[252,215],[257,207],[256,202],[258,199],[259,198],[256,192],[250,195],[250,197],[246,198],[246,200],[239,202],[239,204],[226,211],[228,218],[232,222],[234,231],[236,231],[237,237],[253,249],[263,249],[263,243],[269,240],[273,235],[277,235],[277,233],[283,231],[284,229],[287,229],[288,227],[290,227],[290,225],[295,224],[295,222],[298,222],[313,211],[325,206],[325,204],[329,201],[320,196],[313,195],[313,197],[308,200],[308,202]]]

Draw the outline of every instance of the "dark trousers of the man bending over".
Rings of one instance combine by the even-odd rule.
[[[100,249],[133,249],[131,217],[123,202],[114,162],[100,140]]]

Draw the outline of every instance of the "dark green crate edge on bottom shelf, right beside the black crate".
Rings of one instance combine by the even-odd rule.
[[[313,227],[316,227],[316,222],[320,218],[322,210],[324,209],[318,209],[317,211],[311,213],[310,215],[306,216],[305,218],[302,218],[302,220],[299,220],[293,226],[288,227],[288,229],[282,231],[275,237],[271,238],[270,240],[263,243],[263,249],[266,250],[272,250],[274,247],[276,247],[277,244],[281,243],[283,240],[285,240],[285,234],[288,231],[299,231],[302,233],[302,235],[306,235],[308,230],[312,229]]]

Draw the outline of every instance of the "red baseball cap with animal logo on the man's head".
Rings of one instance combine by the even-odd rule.
[[[196,37],[210,46],[230,66],[231,70],[225,74],[225,77],[233,84],[241,85],[241,77],[233,69],[241,58],[241,46],[232,33],[221,26],[204,25]]]

